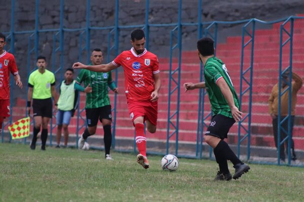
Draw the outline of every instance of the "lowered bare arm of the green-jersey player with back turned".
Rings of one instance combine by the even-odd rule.
[[[220,91],[223,93],[224,97],[226,98],[234,120],[241,121],[243,113],[240,112],[239,109],[235,106],[233,94],[226,81],[224,79],[219,79],[216,84],[218,85]]]

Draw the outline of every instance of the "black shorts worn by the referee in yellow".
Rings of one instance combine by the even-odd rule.
[[[33,116],[52,118],[52,98],[33,99]]]

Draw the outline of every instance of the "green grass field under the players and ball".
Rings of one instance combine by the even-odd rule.
[[[304,169],[250,165],[238,180],[215,182],[217,164],[179,159],[176,172],[149,156],[144,170],[135,154],[0,144],[1,201],[303,201]],[[230,164],[232,174],[234,169]]]

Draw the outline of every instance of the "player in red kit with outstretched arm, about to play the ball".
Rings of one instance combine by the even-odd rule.
[[[129,51],[122,52],[111,63],[95,66],[74,63],[73,68],[109,72],[123,66],[129,114],[135,127],[136,145],[139,150],[137,162],[147,169],[149,162],[146,158],[144,122],[150,133],[156,132],[158,98],[161,88],[159,61],[156,55],[144,48],[143,30],[136,29],[131,33],[131,44],[133,47]]]

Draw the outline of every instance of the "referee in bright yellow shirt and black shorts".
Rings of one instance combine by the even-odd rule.
[[[52,118],[52,97],[55,102],[55,111],[57,111],[57,93],[55,89],[55,75],[46,69],[47,59],[44,56],[37,57],[38,69],[33,71],[28,78],[27,92],[27,111],[31,107],[31,99],[33,99],[33,117],[35,121],[33,129],[33,138],[30,148],[35,149],[37,135],[41,132],[41,150],[46,150],[46,142],[48,138],[48,124]]]

